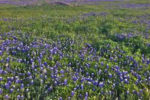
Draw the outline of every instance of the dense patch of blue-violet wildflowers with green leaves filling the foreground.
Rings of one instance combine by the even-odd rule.
[[[48,42],[6,33],[1,40],[0,99],[144,99],[149,95],[146,55],[132,55],[110,44],[99,50],[88,43],[77,47],[65,36]]]

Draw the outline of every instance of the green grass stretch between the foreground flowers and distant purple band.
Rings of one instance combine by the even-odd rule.
[[[109,39],[116,33],[140,33],[146,30],[145,24],[133,24],[131,21],[138,20],[136,16],[148,15],[149,9],[108,8],[109,2],[103,5],[81,6],[12,6],[0,7],[0,32],[18,31],[31,34],[32,36],[55,39],[57,35],[65,34],[76,39],[78,35],[84,37],[84,41],[93,42],[93,38]],[[122,2],[115,2],[115,4]],[[138,2],[139,3],[139,2]],[[89,16],[82,18],[85,13],[106,12],[107,16]],[[5,21],[7,19],[7,21]],[[71,20],[71,21],[69,21]],[[84,43],[83,41],[83,43]],[[149,41],[149,40],[146,40]]]

